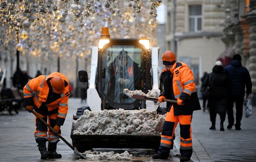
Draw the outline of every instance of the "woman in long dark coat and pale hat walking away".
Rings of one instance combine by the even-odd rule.
[[[221,62],[216,62],[216,65],[212,69],[212,73],[207,75],[204,80],[202,87],[209,85],[209,112],[212,126],[210,130],[216,130],[216,115],[220,115],[221,125],[220,131],[224,131],[223,122],[226,117],[226,109],[228,106],[228,92],[229,92],[229,78],[224,73],[224,69]]]

